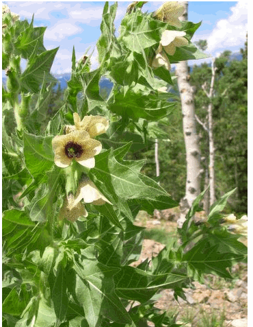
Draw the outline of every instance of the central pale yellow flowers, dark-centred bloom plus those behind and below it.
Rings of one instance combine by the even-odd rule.
[[[81,121],[79,114],[73,114],[75,125],[67,125],[65,135],[55,136],[52,140],[53,152],[55,153],[55,165],[61,168],[68,167],[72,160],[80,165],[93,168],[94,156],[102,149],[101,142],[94,137],[101,135],[109,128],[109,121],[101,116],[85,116]],[[79,183],[75,196],[69,193],[59,210],[59,220],[66,218],[68,221],[76,221],[79,217],[87,217],[88,212],[81,200],[85,203],[102,205],[105,202],[111,204],[103,194],[98,191],[95,184],[85,177]]]

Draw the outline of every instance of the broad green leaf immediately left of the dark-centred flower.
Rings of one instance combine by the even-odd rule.
[[[35,179],[42,178],[53,166],[52,138],[24,132],[25,165]]]

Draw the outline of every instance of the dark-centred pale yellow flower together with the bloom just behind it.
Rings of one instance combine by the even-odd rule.
[[[95,166],[94,156],[102,149],[101,142],[94,139],[103,134],[109,127],[109,122],[101,116],[85,116],[81,121],[74,113],[75,125],[67,125],[66,135],[55,136],[52,141],[55,152],[55,165],[66,168],[72,160],[87,168]]]

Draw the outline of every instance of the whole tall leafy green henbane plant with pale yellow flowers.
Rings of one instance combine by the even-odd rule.
[[[130,265],[142,247],[138,211],[177,204],[140,172],[142,161],[124,157],[145,147],[148,124],[175,106],[170,93],[159,92],[173,83],[170,63],[204,57],[191,43],[200,23],[180,23],[180,6],[164,18],[144,14],[143,4],[131,6],[116,38],[117,3],[105,3],[100,66],[91,71],[87,53],[76,64],[73,49],[71,78],[53,116],[57,49],[45,49],[45,27],[3,8],[3,326],[179,326],[155,308],[157,292],[173,289],[184,298],[191,280],[231,278],[232,264],[245,261],[239,236],[221,226],[230,193],[196,226],[202,193],[179,230],[182,245]],[[114,83],[107,97],[101,77]]]

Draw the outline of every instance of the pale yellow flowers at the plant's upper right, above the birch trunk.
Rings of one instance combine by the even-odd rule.
[[[161,8],[155,12],[153,17],[165,21],[172,26],[181,27],[181,21],[179,21],[178,17],[181,16],[183,12],[183,5],[180,5],[176,1],[171,1],[165,2]],[[170,61],[167,54],[173,56],[176,52],[176,47],[188,45],[189,42],[187,38],[184,38],[185,35],[185,32],[166,29],[161,36],[159,47],[157,51],[155,51],[155,58],[152,60],[152,68],[156,69],[164,66],[165,69],[169,70]]]

